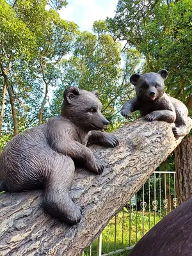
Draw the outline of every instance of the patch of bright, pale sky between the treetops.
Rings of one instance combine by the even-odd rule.
[[[95,20],[114,17],[118,0],[68,0],[59,13],[61,19],[74,21],[81,31],[92,32]]]

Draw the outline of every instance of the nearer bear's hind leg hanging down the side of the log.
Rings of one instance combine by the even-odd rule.
[[[70,157],[61,156],[52,159],[52,166],[45,182],[44,210],[54,218],[72,225],[79,223],[81,208],[74,204],[68,189],[74,175],[74,162]]]

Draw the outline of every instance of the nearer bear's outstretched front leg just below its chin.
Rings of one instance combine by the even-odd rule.
[[[112,148],[118,146],[118,140],[115,135],[101,131],[91,131],[88,137],[88,143]]]

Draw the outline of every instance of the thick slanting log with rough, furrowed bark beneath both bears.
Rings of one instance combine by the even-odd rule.
[[[113,132],[120,141],[118,147],[91,147],[105,167],[102,175],[76,170],[70,194],[83,210],[77,225],[61,223],[46,214],[43,191],[3,193],[0,254],[79,255],[179,145],[182,137],[175,139],[172,126],[140,118]]]

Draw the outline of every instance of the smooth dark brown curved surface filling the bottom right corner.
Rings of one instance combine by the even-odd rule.
[[[192,198],[179,205],[150,229],[128,255],[191,256]]]

